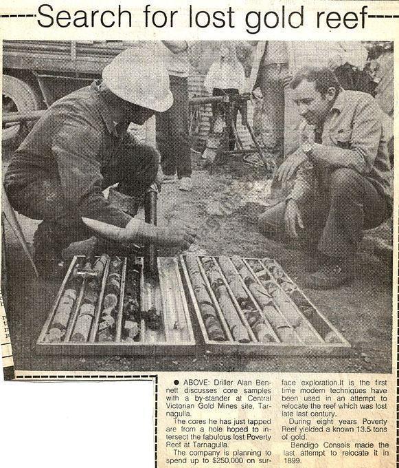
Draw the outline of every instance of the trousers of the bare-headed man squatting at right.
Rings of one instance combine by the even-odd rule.
[[[391,206],[369,180],[352,169],[336,169],[324,187],[324,193],[299,206],[305,225],[300,240],[317,242],[317,250],[329,257],[354,255],[363,229],[383,224]],[[285,210],[286,202],[281,202],[265,211],[259,218],[260,232],[266,237],[282,233]]]

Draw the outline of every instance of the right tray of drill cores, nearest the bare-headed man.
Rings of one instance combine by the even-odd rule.
[[[273,259],[182,255],[190,308],[215,354],[342,356],[350,343]]]

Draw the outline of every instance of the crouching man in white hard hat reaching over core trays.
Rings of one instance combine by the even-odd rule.
[[[159,153],[136,142],[128,125],[143,125],[172,102],[161,62],[126,50],[105,67],[102,81],[56,101],[38,120],[12,156],[4,187],[16,211],[43,220],[34,235],[39,273],[56,274],[62,250],[91,237],[96,222],[119,228],[127,243],[194,242],[188,226],[159,228],[134,218],[156,180]],[[116,183],[113,198],[123,210],[102,193]]]

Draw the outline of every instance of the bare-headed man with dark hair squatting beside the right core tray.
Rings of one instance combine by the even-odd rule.
[[[328,289],[354,279],[362,230],[392,212],[391,167],[380,109],[369,94],[344,91],[328,68],[305,67],[290,83],[304,123],[301,147],[277,171],[295,177],[288,198],[260,216],[269,237],[288,237],[317,248],[319,270],[304,286]]]

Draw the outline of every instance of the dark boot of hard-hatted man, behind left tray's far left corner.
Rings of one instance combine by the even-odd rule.
[[[38,225],[33,237],[34,262],[41,277],[59,278],[64,274],[60,229],[51,222]]]

